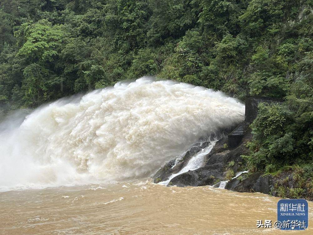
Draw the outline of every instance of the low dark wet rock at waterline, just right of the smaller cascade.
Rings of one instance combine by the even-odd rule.
[[[230,180],[225,189],[237,192],[261,192],[268,194],[273,185],[273,177],[266,175],[263,176],[262,172],[256,172],[251,175],[243,174],[245,177],[242,181],[239,177]]]

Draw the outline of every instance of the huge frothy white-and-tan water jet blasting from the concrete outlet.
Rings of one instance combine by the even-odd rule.
[[[119,82],[39,107],[17,127],[2,128],[0,189],[148,177],[200,137],[243,118],[244,105],[219,91],[148,77]]]

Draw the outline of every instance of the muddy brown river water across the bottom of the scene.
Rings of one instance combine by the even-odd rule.
[[[312,234],[257,228],[280,198],[147,181],[0,193],[1,234]],[[309,202],[309,207],[313,204]]]

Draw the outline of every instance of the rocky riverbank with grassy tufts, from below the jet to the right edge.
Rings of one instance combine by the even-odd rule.
[[[202,167],[173,177],[167,185],[180,187],[211,185],[220,187],[221,182],[226,182],[223,188],[231,191],[261,192],[283,198],[305,198],[312,201],[313,194],[310,184],[303,182],[304,180],[310,180],[310,178],[304,178],[304,172],[296,166],[284,167],[272,174],[264,171],[248,171],[242,155],[249,153],[246,144],[251,141],[251,138],[251,129],[248,128],[239,145],[230,148],[227,136],[222,137],[216,142],[211,152],[204,155]],[[154,182],[166,181],[173,172],[178,172],[182,166],[186,165],[194,154],[197,154],[197,151],[201,151],[201,148],[192,147],[190,151],[187,151],[179,164],[171,166],[174,162],[172,161],[164,165],[154,175]],[[240,172],[244,173],[234,178]],[[301,183],[303,191],[300,196],[296,191]]]

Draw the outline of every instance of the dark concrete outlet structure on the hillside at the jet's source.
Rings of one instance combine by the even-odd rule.
[[[245,115],[244,122],[239,124],[231,133],[228,135],[228,147],[235,148],[242,140],[244,134],[249,128],[249,124],[258,115],[259,103],[282,103],[282,99],[271,98],[271,97],[259,97],[259,96],[248,96],[245,100]]]

